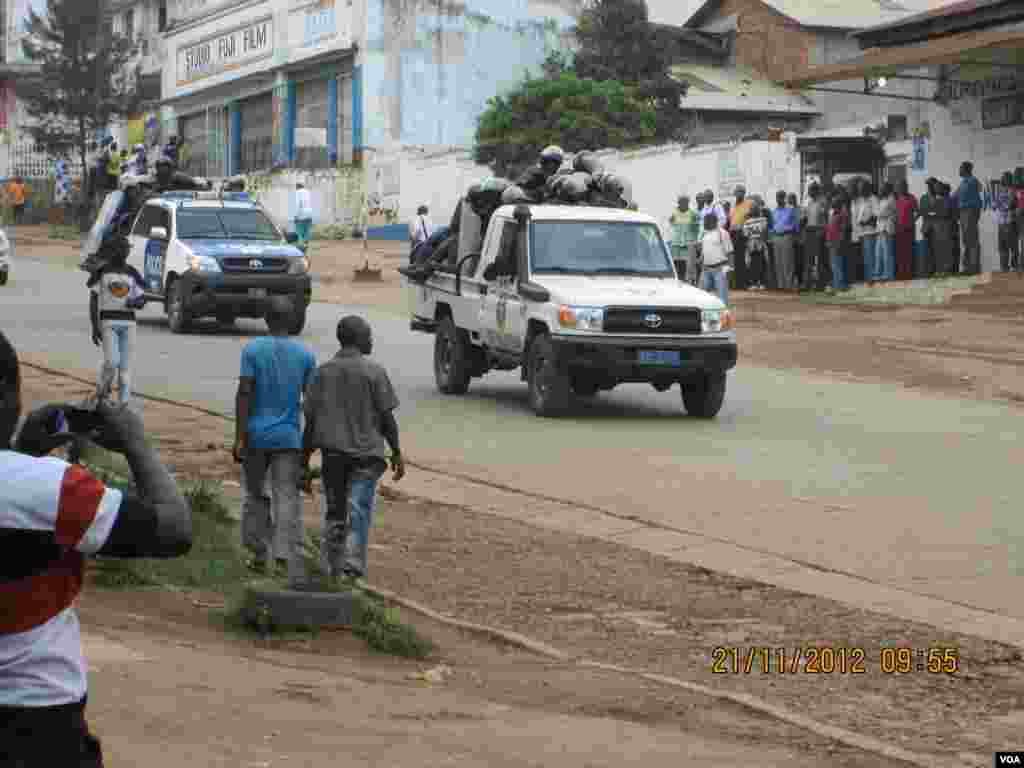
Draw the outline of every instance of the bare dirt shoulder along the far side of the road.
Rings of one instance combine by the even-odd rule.
[[[20,258],[73,267],[77,244],[29,231]],[[407,311],[397,268],[402,243],[317,241],[310,246],[316,301]],[[354,280],[369,263],[381,282]],[[16,275],[15,275],[16,280]],[[897,383],[962,397],[1024,404],[1024,324],[946,306],[858,307],[806,297],[733,292],[742,364],[799,369],[859,381]]]

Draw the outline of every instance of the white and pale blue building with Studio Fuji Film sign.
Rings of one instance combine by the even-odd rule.
[[[399,213],[403,158],[472,145],[486,100],[562,45],[574,0],[171,0],[160,123],[185,170],[263,175],[287,219]],[[379,222],[377,222],[379,223]]]

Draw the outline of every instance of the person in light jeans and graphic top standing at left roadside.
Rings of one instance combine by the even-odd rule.
[[[131,399],[131,369],[135,356],[135,310],[144,304],[142,275],[127,263],[128,241],[118,238],[104,246],[106,264],[86,284],[90,290],[92,343],[102,346],[103,365],[96,382],[96,400],[111,397],[118,380],[118,401]]]

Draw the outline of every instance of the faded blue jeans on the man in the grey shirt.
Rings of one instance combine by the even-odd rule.
[[[377,483],[386,469],[383,459],[324,452],[324,559],[332,575],[366,577]]]

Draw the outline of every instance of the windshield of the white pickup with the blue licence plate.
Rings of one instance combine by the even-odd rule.
[[[628,221],[532,222],[530,271],[675,276],[657,227]]]

